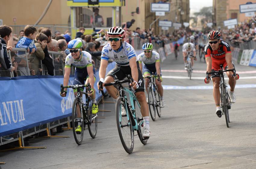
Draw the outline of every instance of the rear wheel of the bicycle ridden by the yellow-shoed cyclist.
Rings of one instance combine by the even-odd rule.
[[[96,137],[97,134],[97,127],[98,127],[98,116],[97,114],[92,114],[92,108],[87,110],[87,117],[88,117],[88,130],[90,136],[92,138]]]

